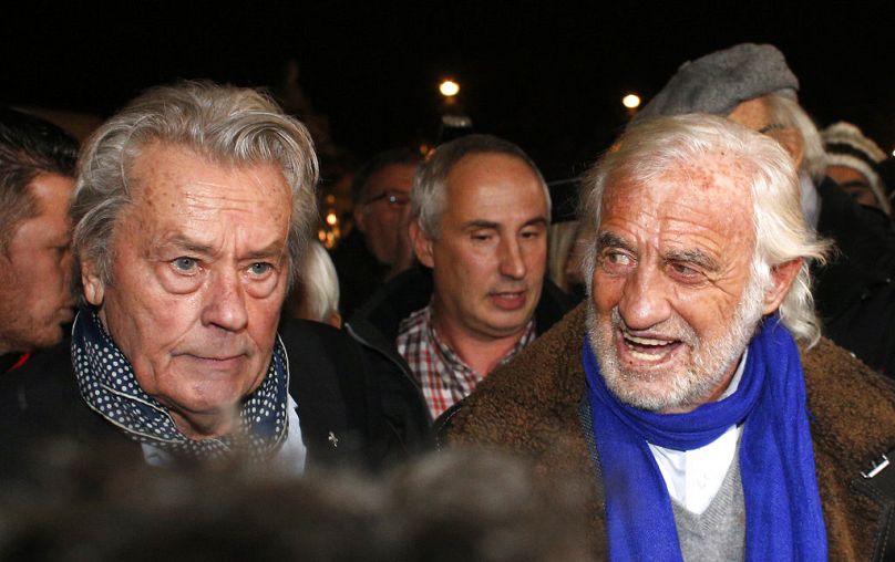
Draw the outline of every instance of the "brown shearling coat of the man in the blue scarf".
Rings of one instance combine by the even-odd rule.
[[[580,417],[585,306],[480,383],[448,420],[444,440],[508,448],[533,457],[547,477],[589,482],[589,540],[605,560],[601,486]],[[895,385],[829,340],[800,351],[830,559],[881,559],[895,509],[861,471],[895,447]]]

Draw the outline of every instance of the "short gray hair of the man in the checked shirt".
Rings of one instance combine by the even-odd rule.
[[[502,154],[524,162],[544,188],[549,217],[551,192],[547,183],[544,181],[544,176],[541,175],[534,160],[522,148],[492,135],[464,135],[435,148],[413,177],[413,190],[410,194],[411,216],[420,221],[420,227],[429,238],[435,239],[440,235],[448,175],[460,160],[475,154]]]

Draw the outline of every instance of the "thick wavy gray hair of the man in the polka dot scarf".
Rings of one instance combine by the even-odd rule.
[[[305,126],[268,96],[210,82],[146,91],[100,127],[78,163],[71,217],[76,261],[92,261],[110,283],[111,238],[132,202],[128,174],[152,143],[184,146],[215,162],[276,163],[292,191],[288,236],[289,284],[317,222],[317,156]],[[80,274],[75,274],[80,283]]]

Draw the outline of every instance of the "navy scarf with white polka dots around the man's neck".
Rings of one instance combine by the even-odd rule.
[[[193,440],[174,425],[168,408],[143,392],[131,363],[95,312],[81,309],[72,330],[72,362],[88,405],[135,441],[177,458],[215,460],[244,455],[248,461],[274,456],[286,437],[289,370],[277,339],[265,379],[239,412],[240,429],[225,437]]]

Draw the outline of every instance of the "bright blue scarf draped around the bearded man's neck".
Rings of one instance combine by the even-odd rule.
[[[750,342],[737,392],[688,414],[652,414],[620,403],[606,387],[588,342],[584,368],[610,560],[682,560],[671,500],[647,443],[696,449],[742,422],[745,560],[826,560],[805,381],[795,342],[776,316]]]

